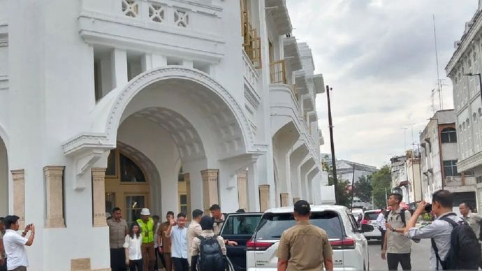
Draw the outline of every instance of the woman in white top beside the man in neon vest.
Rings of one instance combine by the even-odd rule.
[[[126,235],[124,249],[126,249],[126,265],[129,265],[131,271],[143,271],[143,255],[140,251],[140,245],[143,244],[143,237],[140,236],[140,228],[137,222],[134,222]]]

